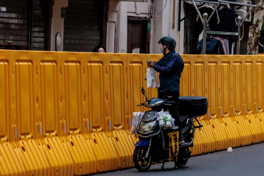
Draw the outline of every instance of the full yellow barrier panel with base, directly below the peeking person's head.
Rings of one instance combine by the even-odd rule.
[[[87,142],[92,144],[96,157],[96,172],[117,169],[117,153],[108,132],[112,129],[107,101],[107,55],[85,53],[85,105],[88,117]],[[120,89],[120,88],[119,88]],[[108,145],[105,145],[108,144]],[[109,147],[112,146],[112,147]],[[106,152],[105,152],[106,151]],[[106,155],[102,156],[102,153]]]

